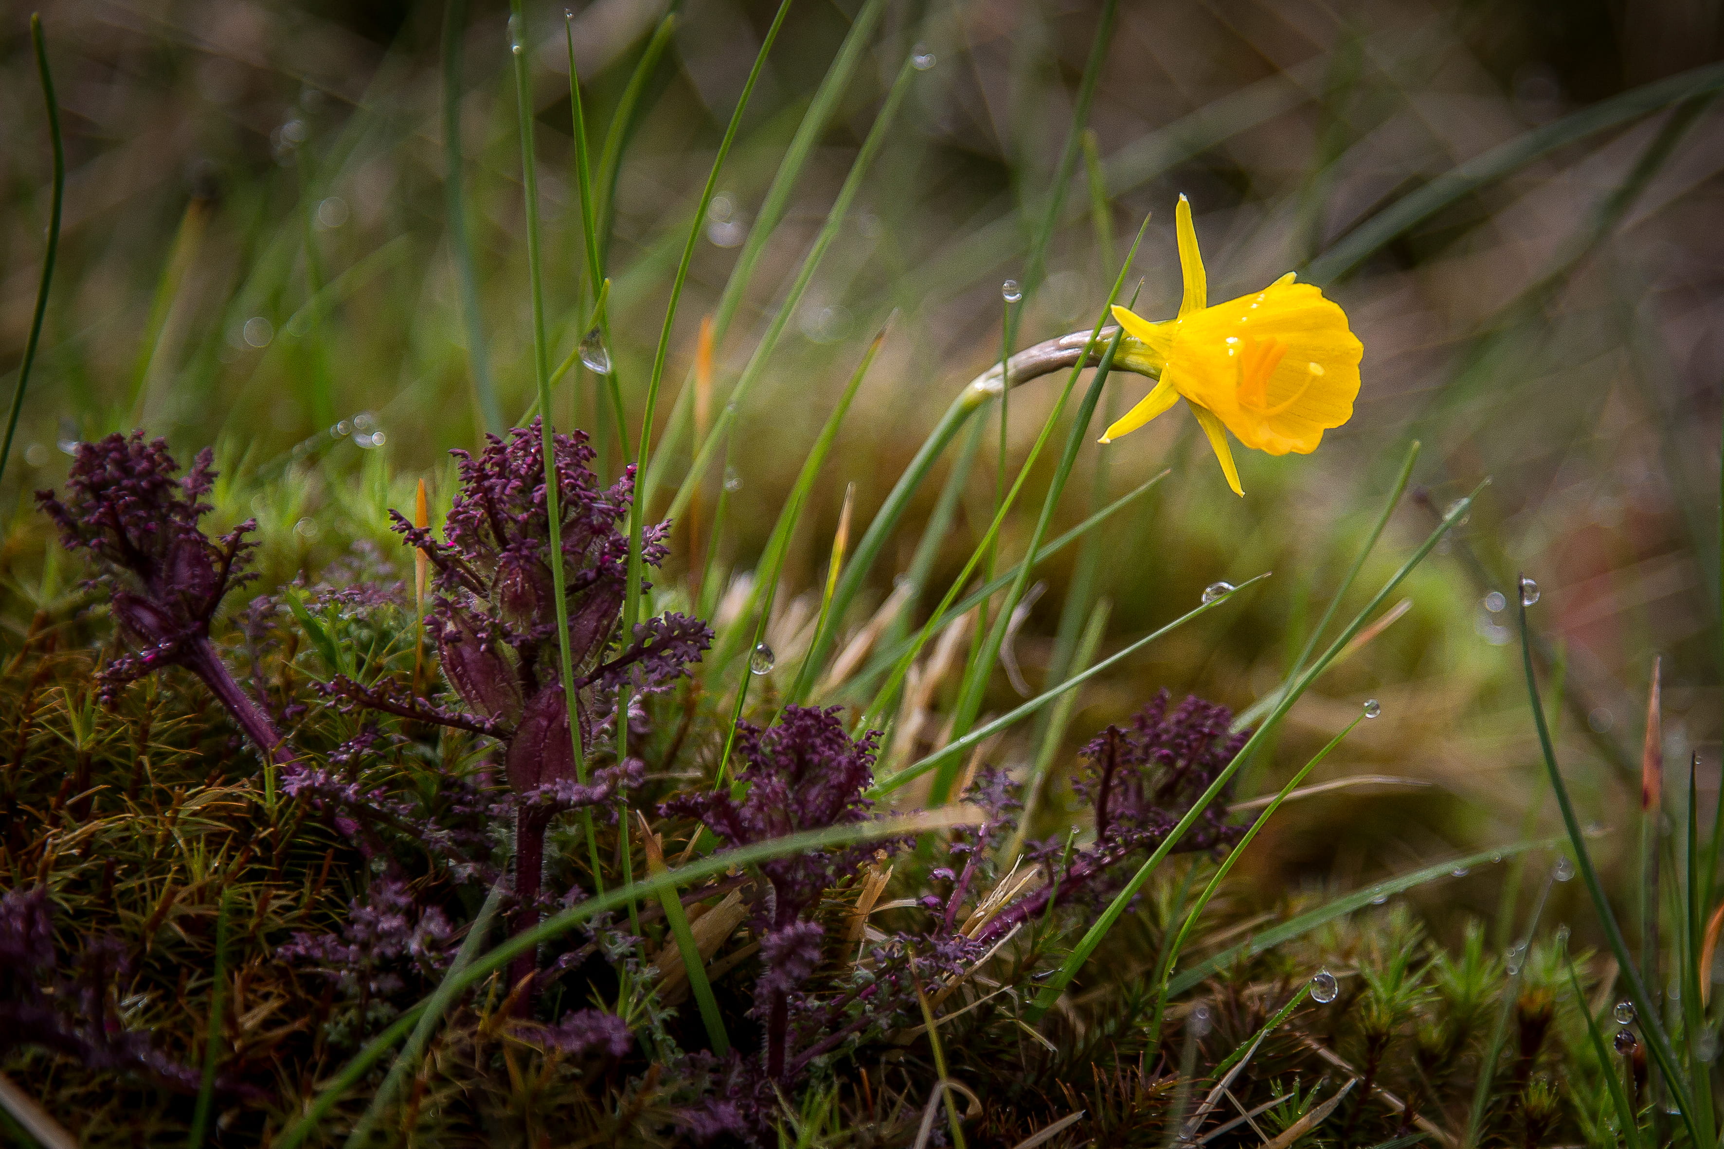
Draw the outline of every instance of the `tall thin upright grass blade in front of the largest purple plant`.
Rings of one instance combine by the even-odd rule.
[[[574,775],[586,786],[586,748],[581,744],[581,717],[574,696],[574,655],[569,649],[569,587],[562,555],[562,469],[557,465],[557,432],[550,419],[550,362],[545,346],[545,284],[540,270],[540,219],[538,219],[538,158],[533,150],[533,102],[528,88],[526,17],[522,0],[509,0],[509,50],[515,74],[515,119],[521,133],[521,174],[528,208],[528,283],[533,296],[533,377],[540,400],[540,451],[545,458],[545,525],[550,536],[552,601],[557,612],[557,656],[562,672],[562,699],[569,722],[569,751],[574,756]],[[624,630],[628,634],[628,630]],[[628,703],[619,696],[619,713]],[[617,727],[626,729],[626,722]],[[622,761],[619,756],[617,761]],[[593,887],[605,891],[605,875],[598,861],[598,837],[593,834],[593,811],[581,808],[581,834],[586,839],[588,865]]]

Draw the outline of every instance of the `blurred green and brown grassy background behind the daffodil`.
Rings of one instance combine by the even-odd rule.
[[[790,12],[709,212],[667,388],[690,372],[700,319],[717,307],[857,7],[802,0]],[[610,357],[631,420],[688,214],[774,9],[681,3],[650,76],[619,172],[609,252]],[[752,568],[838,391],[896,310],[805,515],[781,610],[822,577],[846,484],[857,486],[865,524],[950,398],[998,358],[1000,284],[1026,274],[1098,10],[1088,0],[886,7],[715,357],[714,410],[821,227],[900,62],[912,50],[933,57],[691,506],[693,537],[705,546],[719,488],[729,488],[719,555]],[[664,16],[664,5],[638,0],[576,10],[595,148]],[[447,505],[445,453],[472,446],[486,424],[479,377],[491,381],[505,422],[528,410],[533,351],[505,17],[490,2],[448,10],[67,0],[43,9],[69,179],[43,351],[0,486],[5,624],[16,634],[72,577],[47,551],[29,491],[62,482],[79,439],[143,425],[186,455],[216,444],[221,515],[259,517],[265,582],[274,582],[321,568],[355,537],[395,556],[384,512],[409,508],[419,477]],[[579,295],[562,10],[529,5],[529,17],[557,362],[579,343],[590,300]],[[453,76],[464,141],[457,174],[479,348],[469,346],[447,212],[441,45],[450,28],[464,57]],[[1162,686],[1240,710],[1271,689],[1369,531],[1409,439],[1424,443],[1414,475],[1422,500],[1396,513],[1355,596],[1398,565],[1441,508],[1493,479],[1455,544],[1407,582],[1410,610],[1293,710],[1276,763],[1257,775],[1262,787],[1296,767],[1369,696],[1381,699],[1383,717],[1348,739],[1326,777],[1386,773],[1440,789],[1290,806],[1245,863],[1265,889],[1355,885],[1553,823],[1508,644],[1512,620],[1490,608],[1491,591],[1512,594],[1515,572],[1541,587],[1536,620],[1565,703],[1564,763],[1590,817],[1622,830],[1605,853],[1633,837],[1627,813],[1655,655],[1664,656],[1671,784],[1700,753],[1710,808],[1724,389],[1719,107],[1695,98],[1622,119],[1483,181],[1357,264],[1341,265],[1334,253],[1395,202],[1493,148],[1536,140],[1646,84],[1715,69],[1719,34],[1717,7],[1702,0],[1121,5],[1091,115],[1109,196],[1100,231],[1112,239],[1098,236],[1079,174],[1046,276],[1028,284],[1019,345],[1091,322],[1117,257],[1102,248],[1122,252],[1145,214],[1136,310],[1171,315],[1179,291],[1172,205],[1184,193],[1210,298],[1314,265],[1346,307],[1365,363],[1353,420],[1317,455],[1240,453],[1245,500],[1229,494],[1190,419],[1171,415],[1105,448],[1112,494],[1162,467],[1174,474],[1103,527],[1096,593],[1114,603],[1103,653],[1196,605],[1214,581],[1276,575],[1152,646],[1129,672],[1086,687],[1072,746]],[[48,214],[48,140],[24,9],[0,17],[0,393],[10,393]],[[1014,465],[1057,386],[1046,379],[1012,394]],[[1115,376],[1107,401],[1124,410],[1146,386]],[[621,455],[598,394],[595,377],[578,369],[559,388],[555,415],[598,427],[602,462],[614,472]],[[660,401],[662,422],[672,398]],[[990,432],[940,555],[946,579],[991,515],[991,443]],[[1079,479],[1100,450],[1084,448]],[[671,489],[657,493],[659,513],[686,470],[686,439],[681,451]],[[1081,479],[1067,494],[1060,529],[1086,513],[1086,486]],[[874,570],[867,608],[909,567],[936,494],[938,482],[922,491]],[[1021,506],[1038,498],[1031,489]],[[1007,555],[1015,558],[1031,524],[1028,512],[1007,524]],[[688,531],[679,524],[671,581],[690,577]],[[1050,593],[1015,643],[1031,684],[1052,651],[1076,553],[1045,565]],[[943,587],[934,586],[924,606]],[[1012,705],[1000,675],[988,710]],[[1009,761],[1014,753],[1021,748],[1002,751]],[[1490,913],[1502,885],[1500,872],[1479,872],[1422,897]]]

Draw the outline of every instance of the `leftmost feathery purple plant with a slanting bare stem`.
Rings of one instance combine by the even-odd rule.
[[[198,451],[191,470],[166,439],[145,443],[141,431],[81,443],[66,479],[66,501],[36,491],[36,503],[60,527],[69,551],[88,551],[97,584],[109,593],[121,632],[136,646],[102,668],[102,699],[109,705],[126,684],[164,667],[198,675],[257,748],[286,761],[281,736],[259,705],[240,689],[210,641],[210,620],[228,591],[255,575],[240,574],[247,553],[245,520],[210,539],[198,522],[212,506],[203,501],[216,481],[214,455]]]

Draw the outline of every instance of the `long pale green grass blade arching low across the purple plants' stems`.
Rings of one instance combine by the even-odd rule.
[[[807,830],[803,834],[774,837],[765,842],[740,846],[736,849],[724,849],[696,861],[690,861],[676,870],[665,870],[664,873],[636,880],[631,885],[619,885],[605,894],[588,897],[569,910],[553,913],[531,930],[522,930],[521,934],[498,942],[490,953],[483,958],[476,958],[465,968],[459,972],[447,972],[438,989],[441,991],[443,985],[448,985],[448,994],[452,997],[462,994],[493,973],[507,968],[509,963],[522,953],[562,937],[583,922],[609,910],[617,910],[631,899],[657,897],[660,891],[678,889],[702,879],[726,873],[731,868],[750,866],[771,858],[783,858],[786,854],[800,854],[814,849],[834,849],[862,842],[879,842],[893,837],[928,834],[960,825],[978,825],[984,818],[986,813],[974,806],[946,806],[945,810],[924,810],[914,815],[879,818],[874,822],[850,822],[845,825],[826,827],[822,830]],[[272,1142],[274,1149],[297,1149],[307,1137],[315,1133],[317,1125],[341,1101],[347,1090],[359,1085],[371,1068],[384,1054],[388,1054],[390,1049],[393,1049],[395,1044],[409,1034],[409,1030],[412,1030],[417,1020],[424,1015],[426,1008],[428,1003],[410,1006],[378,1037],[371,1039],[364,1049],[348,1058],[348,1061],[328,1078],[329,1084],[317,1094],[317,1097],[314,1097],[300,1116]]]

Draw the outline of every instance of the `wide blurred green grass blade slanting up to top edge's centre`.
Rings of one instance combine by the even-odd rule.
[[[790,208],[790,196],[796,188],[796,179],[802,176],[802,169],[807,165],[809,157],[814,155],[821,136],[826,133],[826,127],[838,109],[838,100],[850,86],[850,76],[855,72],[857,62],[869,47],[883,12],[884,0],[867,0],[867,3],[864,3],[857,12],[855,19],[850,22],[850,31],[845,33],[845,41],[838,47],[838,55],[833,57],[826,74],[821,78],[821,86],[814,91],[814,98],[809,102],[809,110],[803,112],[802,122],[796,126],[796,133],[790,140],[790,146],[784,148],[784,157],[779,160],[778,172],[772,176],[765,198],[760,202],[760,210],[755,214],[753,224],[748,227],[748,238],[743,239],[743,250],[736,257],[736,265],[731,267],[731,274],[724,281],[724,291],[719,295],[719,307],[712,317],[714,343],[722,341],[726,332],[731,329],[736,308],[741,307],[748,284],[753,283],[760,255],[765,252],[765,245],[778,231],[778,226],[784,220],[784,214]],[[662,472],[669,463],[669,458],[683,444],[683,436],[688,432],[690,420],[693,417],[691,403],[690,388],[684,386],[676,396],[660,450],[655,455],[653,463],[643,472],[645,477],[641,479],[640,494],[641,506],[646,506],[652,501],[653,493],[662,484]]]

